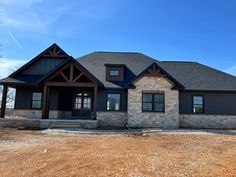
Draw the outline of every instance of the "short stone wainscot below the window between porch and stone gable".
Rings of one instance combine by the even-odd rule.
[[[127,113],[117,111],[97,112],[99,127],[124,127],[127,123]]]

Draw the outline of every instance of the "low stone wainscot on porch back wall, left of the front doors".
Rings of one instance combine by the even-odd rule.
[[[41,119],[42,118],[42,110],[31,110],[31,109],[14,109],[13,117],[18,118],[32,118],[32,119]],[[50,119],[58,119],[58,118],[71,118],[71,111],[49,111]]]

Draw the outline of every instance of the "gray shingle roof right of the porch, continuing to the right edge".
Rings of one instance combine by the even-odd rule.
[[[94,52],[77,59],[106,87],[119,88],[106,81],[105,64],[125,64],[134,75],[156,62],[186,90],[236,91],[236,77],[196,62],[157,61],[141,53]]]

